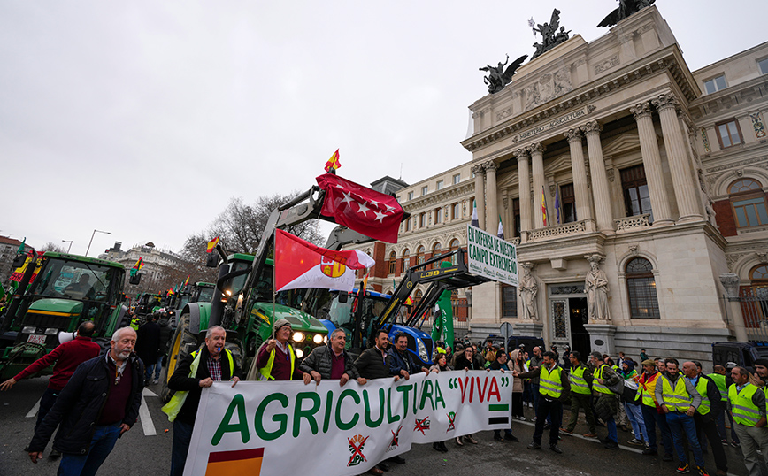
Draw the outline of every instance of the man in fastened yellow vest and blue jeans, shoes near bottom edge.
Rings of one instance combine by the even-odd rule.
[[[696,469],[701,476],[708,476],[704,469],[702,447],[699,445],[694,423],[694,414],[702,404],[702,395],[699,395],[690,380],[680,376],[678,365],[677,359],[666,359],[666,375],[661,376],[656,386],[656,399],[666,414],[666,423],[672,432],[672,443],[680,460],[677,471],[680,473],[691,471],[687,451],[683,446],[683,432],[685,432],[688,446],[694,451]]]

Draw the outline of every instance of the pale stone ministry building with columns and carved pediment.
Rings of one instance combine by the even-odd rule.
[[[392,271],[381,289],[466,246],[476,200],[530,280],[472,289],[475,337],[510,322],[548,346],[703,362],[711,342],[768,340],[768,309],[723,284],[768,287],[766,98],[768,42],[691,72],[656,7],[575,35],[470,106],[470,162],[397,192],[399,242],[367,246]]]

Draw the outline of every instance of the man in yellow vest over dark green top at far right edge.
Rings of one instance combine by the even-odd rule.
[[[749,372],[744,367],[731,370],[733,384],[728,388],[728,411],[733,415],[736,434],[741,440],[741,453],[749,476],[759,476],[757,448],[763,452],[768,464],[768,430],[765,429],[765,394],[749,382]]]

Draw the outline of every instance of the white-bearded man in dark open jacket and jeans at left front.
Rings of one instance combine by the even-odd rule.
[[[111,349],[83,362],[29,443],[33,463],[59,426],[53,448],[63,454],[59,475],[96,474],[121,434],[131,429],[142,404],[144,365],[133,353],[136,333],[115,331]]]

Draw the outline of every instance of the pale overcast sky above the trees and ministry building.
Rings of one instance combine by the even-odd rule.
[[[231,196],[408,183],[472,158],[480,66],[532,16],[591,42],[615,0],[0,0],[0,234],[180,250]],[[764,0],[658,0],[695,70],[768,40]],[[65,243],[64,243],[65,244]]]

